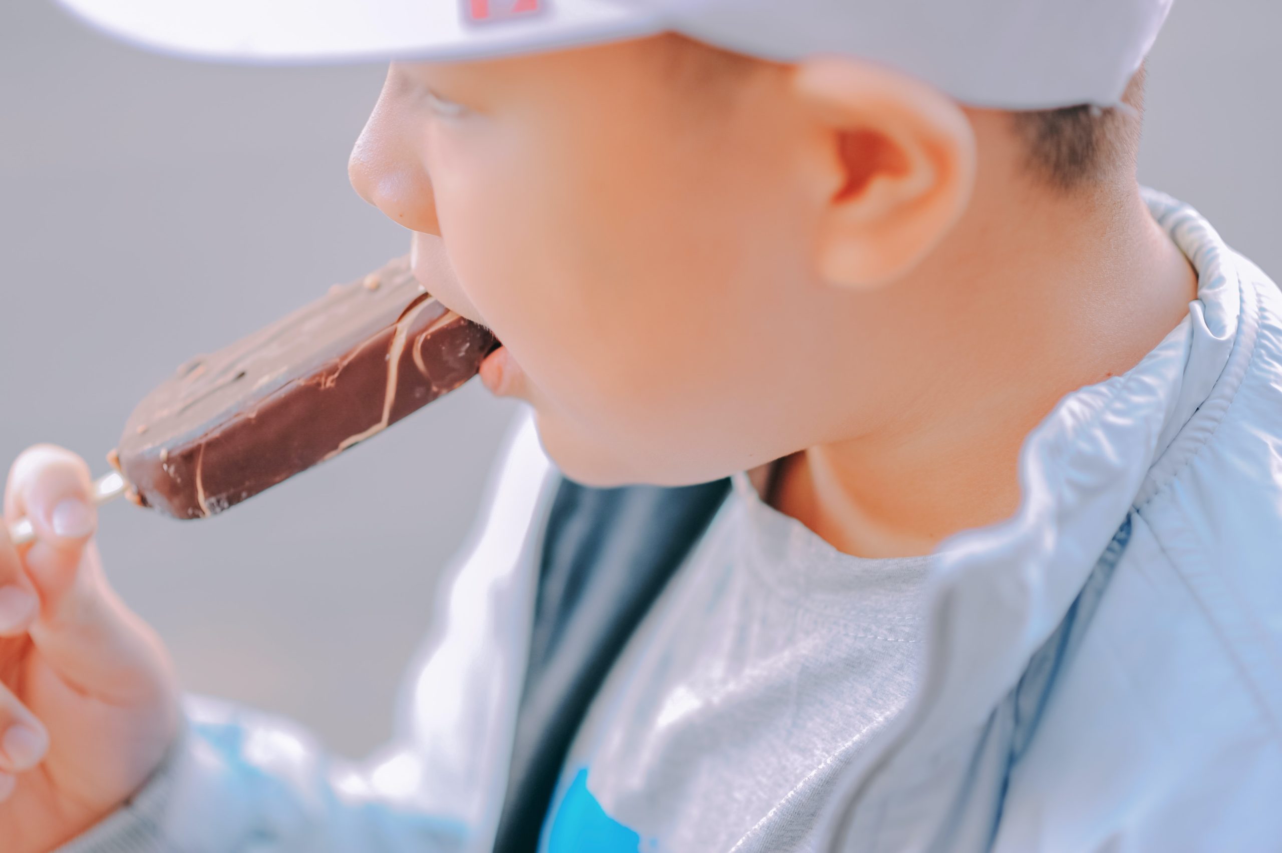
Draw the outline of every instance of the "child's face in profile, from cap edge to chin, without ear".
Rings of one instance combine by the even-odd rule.
[[[786,69],[682,80],[665,55],[396,63],[353,151],[420,280],[508,346],[544,446],[588,484],[699,482],[832,437],[832,400],[864,390],[844,366],[892,331],[817,281],[824,199]]]

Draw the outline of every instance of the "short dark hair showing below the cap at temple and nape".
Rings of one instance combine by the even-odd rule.
[[[668,33],[660,62],[682,89],[727,96],[735,82],[758,59]],[[1070,192],[1135,168],[1140,142],[1138,115],[1144,112],[1145,67],[1131,77],[1122,95],[1129,106],[1100,108],[1090,104],[1042,110],[1011,110],[1013,132],[1023,141],[1029,176],[1055,190]]]

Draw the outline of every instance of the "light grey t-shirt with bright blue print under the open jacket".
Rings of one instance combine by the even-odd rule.
[[[931,558],[844,554],[732,480],[594,699],[545,853],[810,850],[833,779],[908,700]]]

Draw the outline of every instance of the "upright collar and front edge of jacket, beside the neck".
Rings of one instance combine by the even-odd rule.
[[[1065,395],[1028,434],[1014,516],[941,543],[922,682],[838,786],[827,823],[835,836],[874,771],[927,758],[983,723],[1132,507],[1205,440],[1245,373],[1256,305],[1240,259],[1192,208],[1150,190],[1145,201],[1196,268],[1197,299],[1132,369]]]

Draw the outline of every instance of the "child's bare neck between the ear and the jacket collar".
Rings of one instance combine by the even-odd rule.
[[[951,245],[903,282],[932,376],[905,375],[899,396],[913,403],[890,401],[877,427],[786,458],[779,511],[860,557],[927,554],[1013,514],[1024,436],[1065,394],[1138,363],[1196,298],[1135,182],[1100,192],[977,198]]]

